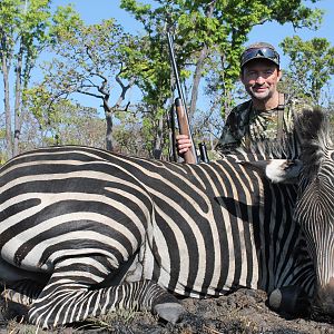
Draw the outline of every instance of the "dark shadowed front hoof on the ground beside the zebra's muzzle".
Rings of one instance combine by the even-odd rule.
[[[268,298],[269,307],[289,315],[305,315],[310,311],[308,296],[298,286],[283,286],[274,289]]]

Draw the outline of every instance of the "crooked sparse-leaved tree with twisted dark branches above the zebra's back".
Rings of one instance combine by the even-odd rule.
[[[106,146],[112,150],[114,118],[117,111],[127,110],[121,105],[135,82],[125,52],[136,49],[135,41],[115,19],[91,26],[81,23],[76,30],[60,31],[58,38],[53,46],[56,57],[43,65],[45,78],[38,86],[47,88],[52,104],[73,98],[75,94],[100,100],[107,121]],[[126,71],[128,80],[124,77]]]

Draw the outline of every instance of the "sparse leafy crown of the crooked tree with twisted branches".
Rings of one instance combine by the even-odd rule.
[[[89,86],[90,77],[112,75],[119,71],[119,63],[124,61],[119,46],[126,43],[125,39],[122,28],[114,19],[91,26],[81,23],[75,30],[58,31],[58,43],[53,46],[57,63],[53,68],[49,67],[50,76],[60,73],[60,80],[66,79],[63,88],[73,89],[80,80],[87,80]]]

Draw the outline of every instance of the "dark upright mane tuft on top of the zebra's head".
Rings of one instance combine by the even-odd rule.
[[[296,121],[301,159],[306,175],[317,173],[325,153],[333,149],[327,115],[321,108],[304,109]]]

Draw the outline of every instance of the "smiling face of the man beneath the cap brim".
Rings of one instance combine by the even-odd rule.
[[[266,59],[252,60],[244,66],[240,79],[246,91],[258,100],[268,100],[277,90],[282,71]]]

